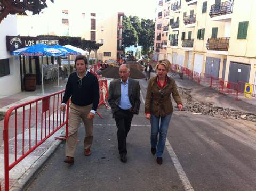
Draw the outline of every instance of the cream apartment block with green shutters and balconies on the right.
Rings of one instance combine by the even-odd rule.
[[[256,84],[255,1],[165,0],[159,6],[162,3],[171,7],[166,49],[171,63],[225,81]],[[156,18],[156,26],[160,22]]]

